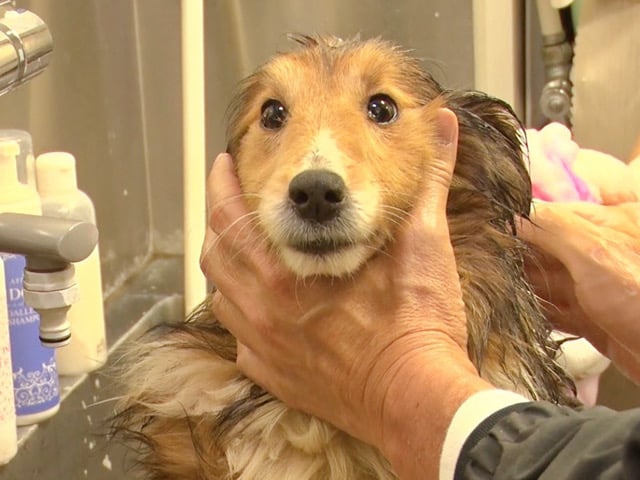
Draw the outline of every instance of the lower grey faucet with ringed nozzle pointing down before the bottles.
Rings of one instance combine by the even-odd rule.
[[[0,252],[26,257],[24,300],[40,315],[44,346],[69,343],[66,314],[78,300],[72,262],[87,258],[97,243],[98,229],[88,222],[0,213]]]

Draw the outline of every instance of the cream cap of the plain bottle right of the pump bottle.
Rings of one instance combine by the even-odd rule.
[[[36,158],[36,183],[42,197],[64,195],[78,189],[76,159],[67,152],[49,152]]]

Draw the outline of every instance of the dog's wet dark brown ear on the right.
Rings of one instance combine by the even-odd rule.
[[[507,103],[483,93],[449,92],[444,99],[460,128],[456,176],[515,227],[514,215],[528,215],[531,206],[524,127]]]

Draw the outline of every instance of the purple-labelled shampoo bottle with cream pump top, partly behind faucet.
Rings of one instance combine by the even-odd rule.
[[[0,142],[0,213],[42,213],[37,192],[18,181],[15,141]],[[40,317],[24,303],[25,258],[0,254],[4,263],[13,394],[18,425],[45,420],[60,408],[55,353],[40,343]]]

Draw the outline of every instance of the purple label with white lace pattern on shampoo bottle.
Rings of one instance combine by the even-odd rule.
[[[24,257],[4,253],[0,257],[5,268],[16,414],[44,412],[60,403],[55,352],[40,343],[40,317],[24,303]]]

